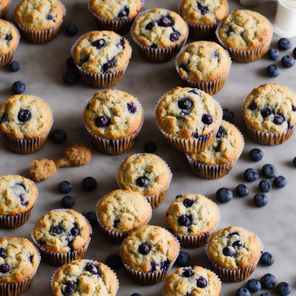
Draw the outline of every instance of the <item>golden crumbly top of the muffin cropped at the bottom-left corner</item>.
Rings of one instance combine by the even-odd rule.
[[[0,238],[0,283],[17,283],[28,278],[38,266],[33,244],[22,237]]]

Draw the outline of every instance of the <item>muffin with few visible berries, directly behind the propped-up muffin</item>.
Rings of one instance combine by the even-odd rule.
[[[212,41],[190,43],[176,59],[176,69],[186,85],[210,95],[224,86],[230,64],[226,50]]]

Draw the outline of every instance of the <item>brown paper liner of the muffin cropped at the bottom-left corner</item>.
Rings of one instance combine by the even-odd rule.
[[[30,285],[33,283],[36,271],[38,269],[40,260],[41,260],[41,256],[40,256],[40,252],[37,249],[36,246],[34,246],[38,255],[38,263],[37,266],[35,268],[35,270],[33,271],[33,273],[27,277],[26,279],[23,279],[22,281],[19,281],[17,283],[11,283],[11,284],[4,284],[4,283],[0,283],[0,295],[1,296],[18,296],[20,294],[22,294],[23,292],[25,292]]]

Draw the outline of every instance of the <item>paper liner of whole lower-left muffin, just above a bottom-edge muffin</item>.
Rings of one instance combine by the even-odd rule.
[[[52,212],[57,212],[57,211],[67,211],[69,209],[54,209],[51,210]],[[84,216],[83,216],[84,217]],[[85,217],[84,217],[85,218]],[[65,263],[69,263],[72,260],[78,260],[78,259],[83,259],[84,254],[87,250],[87,247],[89,246],[89,242],[91,240],[91,234],[92,234],[92,228],[91,224],[89,221],[85,218],[86,223],[89,225],[89,239],[85,243],[83,247],[80,248],[80,250],[75,250],[75,251],[69,251],[69,252],[54,252],[54,251],[49,251],[46,250],[44,247],[42,247],[38,242],[36,241],[34,237],[34,229],[31,232],[31,237],[33,239],[33,242],[36,244],[38,247],[41,257],[49,264],[56,265],[56,266],[61,266]]]

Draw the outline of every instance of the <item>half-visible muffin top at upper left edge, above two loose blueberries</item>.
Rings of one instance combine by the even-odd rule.
[[[6,20],[0,19],[0,57],[8,54],[17,45],[17,30]]]

